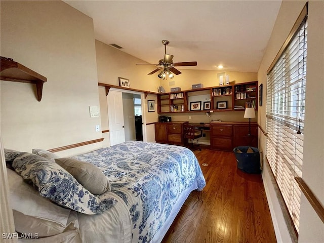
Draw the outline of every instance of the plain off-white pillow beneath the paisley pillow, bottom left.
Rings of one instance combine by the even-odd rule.
[[[68,226],[71,210],[62,208],[39,195],[38,191],[25,183],[15,171],[7,168],[7,174],[10,204],[14,212],[16,230],[25,233],[26,231],[22,230],[25,230],[26,222],[29,222],[27,226],[31,228],[46,222],[39,230],[35,229],[35,233],[38,233],[39,236],[50,236],[63,232]],[[37,221],[37,219],[41,221]]]

